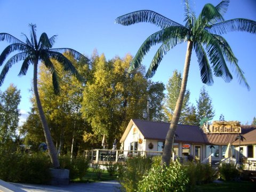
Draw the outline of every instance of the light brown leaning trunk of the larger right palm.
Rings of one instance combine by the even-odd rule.
[[[184,95],[186,92],[186,86],[187,86],[187,81],[188,81],[188,71],[189,71],[192,49],[193,49],[193,42],[188,41],[185,66],[184,66],[184,70],[183,70],[183,77],[182,77],[182,82],[181,82],[181,87],[180,87],[179,98],[176,102],[176,106],[175,106],[174,113],[172,116],[171,124],[170,124],[169,130],[168,130],[166,138],[165,138],[165,145],[164,145],[163,156],[162,156],[162,164],[166,163],[167,166],[170,164],[170,161],[171,161],[172,149],[173,149],[172,140],[174,138],[174,133],[177,128],[177,124],[179,122],[181,107],[182,107]]]

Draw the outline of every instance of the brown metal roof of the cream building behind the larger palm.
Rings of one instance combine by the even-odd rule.
[[[170,123],[166,122],[151,122],[139,119],[132,119],[131,122],[138,127],[145,139],[158,141],[165,141],[165,137],[170,126]],[[129,126],[131,126],[131,124]],[[174,139],[174,142],[205,143],[206,145],[227,145],[228,143],[238,145],[239,143],[239,141],[236,140],[238,134],[204,133],[199,126],[193,125],[178,124],[175,134],[177,134],[178,137]],[[256,126],[242,126],[241,134],[245,138],[244,141],[241,141],[241,144],[246,145],[256,143]]]

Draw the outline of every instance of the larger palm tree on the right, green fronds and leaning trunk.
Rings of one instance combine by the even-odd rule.
[[[193,49],[197,55],[203,83],[212,85],[213,74],[217,77],[222,77],[225,82],[230,82],[233,77],[226,64],[226,61],[228,61],[231,67],[235,69],[239,83],[243,83],[247,89],[250,89],[243,71],[238,66],[238,60],[225,38],[220,35],[230,31],[246,31],[255,34],[256,22],[249,19],[231,19],[225,21],[222,14],[227,11],[228,0],[222,1],[217,6],[206,4],[198,18],[196,18],[195,13],[190,10],[188,1],[189,0],[185,0],[185,26],[149,10],[128,13],[118,17],[115,21],[125,26],[139,22],[150,22],[161,28],[161,30],[150,35],[145,42],[143,42],[130,66],[130,70],[140,67],[143,57],[148,53],[150,48],[156,44],[161,44],[146,73],[146,77],[148,78],[153,77],[161,60],[168,51],[178,44],[187,42],[182,85],[163,150],[162,163],[166,163],[167,165],[170,163],[172,138],[174,137],[174,132],[180,117]]]

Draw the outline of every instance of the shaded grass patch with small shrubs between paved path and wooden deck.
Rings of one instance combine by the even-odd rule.
[[[110,176],[106,170],[102,170],[100,178],[98,177],[98,175],[99,174],[97,174],[93,168],[89,168],[82,180],[74,179],[72,181],[73,182],[98,182],[98,181],[109,181],[109,180],[116,179],[115,176]]]

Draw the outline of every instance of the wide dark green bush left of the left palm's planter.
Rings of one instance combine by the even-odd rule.
[[[5,153],[0,157],[0,179],[8,182],[47,183],[51,179],[46,154]]]

